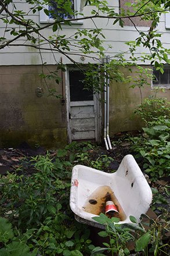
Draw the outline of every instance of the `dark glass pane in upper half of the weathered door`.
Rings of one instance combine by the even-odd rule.
[[[85,79],[84,73],[79,70],[69,71],[69,82],[70,82],[70,101],[92,101],[92,91],[84,88],[82,80]]]

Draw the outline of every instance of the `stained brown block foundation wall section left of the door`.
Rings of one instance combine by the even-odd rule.
[[[50,71],[56,66],[48,66]],[[48,73],[48,70],[44,70]],[[41,66],[0,66],[0,146],[28,144],[61,147],[67,144],[66,105],[48,97]],[[51,89],[62,94],[62,84],[47,80]],[[37,87],[44,95],[37,97]],[[65,90],[65,89],[64,89]]]

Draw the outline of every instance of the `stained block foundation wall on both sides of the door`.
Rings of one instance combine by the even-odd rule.
[[[48,70],[55,69],[56,66],[48,65]],[[33,147],[46,148],[67,144],[66,102],[62,105],[61,99],[48,97],[48,88],[40,73],[41,66],[0,66],[0,147],[14,147],[24,141]],[[135,76],[135,68],[126,75]],[[56,89],[57,94],[65,98],[65,81],[63,90],[62,84],[56,84],[55,80],[47,82],[49,88]],[[110,83],[110,137],[119,131],[142,127],[139,119],[132,119],[133,111],[141,103],[140,91],[129,86]],[[38,87],[44,92],[42,97],[37,97]],[[151,86],[142,88],[142,98],[149,95],[155,95]],[[160,91],[157,97],[170,100],[170,90]]]

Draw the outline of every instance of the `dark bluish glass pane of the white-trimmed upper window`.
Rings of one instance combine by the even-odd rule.
[[[68,2],[68,1],[65,1]],[[71,9],[74,10],[74,0],[71,0]],[[61,5],[61,3],[60,3]],[[74,15],[70,15],[70,13],[67,13],[66,10],[64,10],[55,0],[50,0],[49,4],[49,19],[56,19],[57,17],[61,17],[63,19],[72,19]]]

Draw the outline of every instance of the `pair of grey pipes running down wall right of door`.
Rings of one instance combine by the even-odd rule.
[[[104,63],[108,63],[108,56],[104,58]],[[104,72],[104,143],[106,150],[112,150],[109,137],[109,78],[106,77],[106,69]]]

